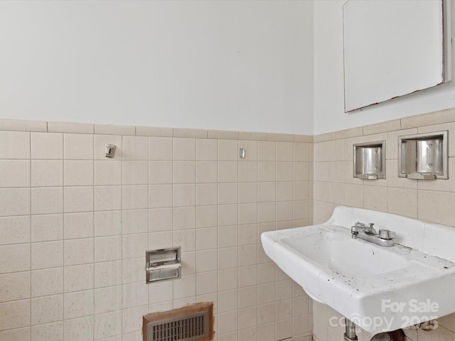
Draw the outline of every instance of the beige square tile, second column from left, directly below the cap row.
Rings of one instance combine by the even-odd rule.
[[[63,134],[31,133],[31,158],[63,159]]]

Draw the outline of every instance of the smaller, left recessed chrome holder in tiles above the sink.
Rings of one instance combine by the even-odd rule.
[[[354,178],[385,179],[385,141],[354,144]]]

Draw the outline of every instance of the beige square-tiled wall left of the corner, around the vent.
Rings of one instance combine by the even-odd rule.
[[[0,340],[139,341],[141,315],[197,301],[215,303],[217,340],[311,335],[308,296],[259,237],[309,224],[311,143],[38,123],[0,126]],[[146,285],[146,249],[172,246],[182,278]]]

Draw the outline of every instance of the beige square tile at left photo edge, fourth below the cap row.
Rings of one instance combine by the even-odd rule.
[[[29,243],[30,217],[0,218],[0,245]]]

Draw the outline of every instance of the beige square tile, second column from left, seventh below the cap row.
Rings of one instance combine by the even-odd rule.
[[[50,323],[58,320],[63,320],[63,295],[32,298],[32,325]]]

